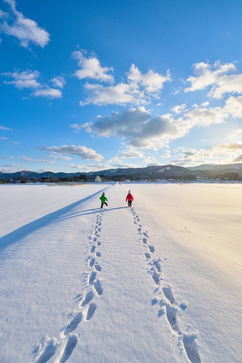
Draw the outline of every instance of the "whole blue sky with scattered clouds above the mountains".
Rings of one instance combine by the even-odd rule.
[[[0,0],[0,171],[242,162],[241,11]]]

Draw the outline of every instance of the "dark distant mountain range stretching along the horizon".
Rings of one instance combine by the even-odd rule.
[[[88,173],[85,172],[77,172],[77,173],[54,173],[52,171],[45,171],[43,173],[37,173],[34,171],[17,171],[15,173],[3,173],[0,172],[0,179],[12,179],[24,177],[26,179],[35,178],[40,179],[43,176],[46,178],[58,177],[58,178],[72,178],[73,176],[79,176],[80,174],[87,175],[87,178],[95,178],[97,175],[105,175],[108,178],[113,175],[125,175],[125,176],[137,176],[139,178],[148,179],[148,178],[172,178],[176,176],[183,176],[187,174],[195,174],[196,176],[204,177],[210,176],[214,177],[216,174],[224,174],[226,172],[238,172],[242,175],[242,163],[237,164],[226,164],[226,165],[211,165],[211,164],[203,164],[194,167],[184,168],[182,166],[175,165],[160,165],[160,166],[147,166],[145,168],[125,168],[125,169],[108,169],[108,170],[99,170],[99,171],[91,171]]]

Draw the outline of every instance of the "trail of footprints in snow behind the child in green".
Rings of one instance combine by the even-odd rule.
[[[46,363],[50,358],[56,353],[57,349],[57,360],[55,363],[64,363],[70,358],[76,344],[78,343],[80,337],[78,334],[71,334],[77,328],[79,323],[84,320],[88,321],[93,317],[95,310],[97,308],[96,303],[92,302],[92,299],[96,296],[103,294],[102,280],[97,278],[98,273],[101,271],[101,265],[99,264],[98,257],[101,256],[101,252],[96,251],[96,248],[101,245],[98,240],[101,232],[103,211],[100,211],[95,220],[95,225],[90,236],[91,248],[88,253],[87,262],[91,268],[88,272],[84,273],[86,280],[86,287],[81,294],[75,297],[77,309],[74,309],[70,314],[70,321],[67,326],[62,329],[60,338],[58,341],[55,337],[49,338],[45,337],[41,340],[39,344],[35,347],[33,353],[35,358],[33,363]],[[89,248],[88,248],[89,249]],[[93,288],[94,287],[94,288]]]

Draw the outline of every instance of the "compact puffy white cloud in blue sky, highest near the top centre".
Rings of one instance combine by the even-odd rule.
[[[78,60],[80,69],[75,72],[76,77],[79,79],[91,78],[97,81],[114,83],[114,78],[109,71],[113,71],[113,68],[101,67],[99,60],[96,57],[86,58],[83,52],[75,50],[72,52],[72,58]]]

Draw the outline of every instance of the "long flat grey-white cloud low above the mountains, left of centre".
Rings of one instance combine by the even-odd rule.
[[[103,160],[103,156],[97,154],[95,150],[87,148],[85,146],[75,146],[75,145],[62,145],[58,146],[37,146],[38,150],[49,151],[55,154],[71,154],[71,155],[78,155],[82,159],[86,160],[96,160],[101,161]]]

